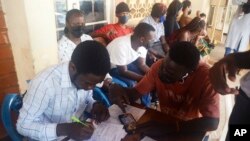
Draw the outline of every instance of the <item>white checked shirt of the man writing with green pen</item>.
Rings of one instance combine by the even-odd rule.
[[[77,90],[68,66],[65,62],[50,67],[31,81],[17,121],[20,134],[34,140],[57,140],[58,123],[69,123],[71,116],[90,111],[92,90]]]

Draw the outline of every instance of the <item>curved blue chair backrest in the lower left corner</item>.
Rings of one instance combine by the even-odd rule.
[[[11,111],[15,111],[15,113],[19,113],[19,109],[22,107],[22,97],[19,94],[7,94],[4,97],[1,115],[3,125],[13,141],[21,141],[22,136],[16,131],[15,125],[12,121]]]

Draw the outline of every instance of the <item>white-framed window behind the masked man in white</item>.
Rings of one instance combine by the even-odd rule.
[[[65,27],[65,18],[68,10],[76,8],[84,13],[86,34],[108,23],[106,4],[107,0],[54,0],[57,40],[59,40]]]

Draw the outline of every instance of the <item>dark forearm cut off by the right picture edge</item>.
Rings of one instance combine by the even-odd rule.
[[[250,51],[233,54],[235,64],[240,69],[250,69]]]

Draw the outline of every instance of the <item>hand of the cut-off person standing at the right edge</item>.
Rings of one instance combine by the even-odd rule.
[[[238,94],[235,88],[229,88],[226,80],[226,73],[231,81],[235,81],[238,68],[235,65],[234,56],[228,55],[215,63],[210,69],[210,81],[216,91],[221,94]]]

